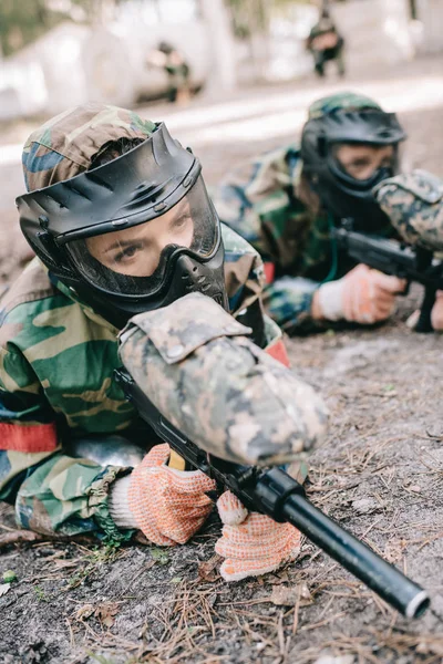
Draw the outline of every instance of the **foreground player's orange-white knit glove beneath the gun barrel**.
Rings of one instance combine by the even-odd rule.
[[[225,581],[272,572],[299,554],[300,531],[290,523],[248,512],[230,491],[220,496],[217,508],[224,527],[215,550],[226,558],[220,568]]]

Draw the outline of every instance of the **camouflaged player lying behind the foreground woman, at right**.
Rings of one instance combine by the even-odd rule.
[[[404,282],[352,263],[330,230],[352,218],[356,230],[394,232],[372,189],[398,173],[404,138],[377,102],[337,93],[310,106],[300,145],[256,157],[214,190],[220,219],[260,252],[269,312],[288,333],[372,324],[393,312]]]

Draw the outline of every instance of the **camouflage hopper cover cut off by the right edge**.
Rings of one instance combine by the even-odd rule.
[[[374,194],[405,242],[443,251],[443,180],[413,170],[383,180]]]

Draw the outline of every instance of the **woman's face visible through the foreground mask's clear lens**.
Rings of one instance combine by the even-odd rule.
[[[103,266],[131,277],[151,277],[168,245],[190,247],[194,222],[187,200],[182,199],[161,217],[125,230],[87,238],[90,253]]]

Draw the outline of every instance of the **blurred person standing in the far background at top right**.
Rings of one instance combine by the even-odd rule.
[[[312,54],[315,71],[319,76],[324,76],[324,64],[330,60],[336,61],[339,76],[344,75],[344,40],[338,32],[328,4],[324,2],[320,20],[312,27],[306,45]]]

